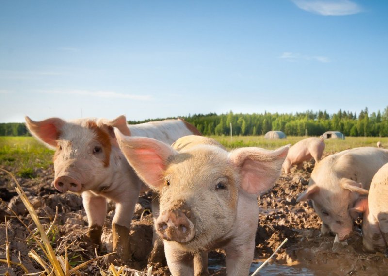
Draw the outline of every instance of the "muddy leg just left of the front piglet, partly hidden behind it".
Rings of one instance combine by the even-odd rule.
[[[156,224],[156,219],[159,217],[159,194],[156,191],[152,192],[152,216],[154,217],[154,225]],[[152,263],[155,267],[155,264],[161,264],[162,266],[166,266],[166,258],[164,255],[164,246],[162,238],[156,233],[155,229],[152,233],[152,243],[154,247],[148,258],[148,263]]]

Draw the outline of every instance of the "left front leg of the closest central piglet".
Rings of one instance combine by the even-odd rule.
[[[188,252],[173,248],[168,242],[164,242],[168,268],[173,276],[193,276],[194,256]]]

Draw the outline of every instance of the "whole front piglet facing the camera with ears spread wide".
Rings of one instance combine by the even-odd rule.
[[[248,275],[257,197],[279,177],[288,146],[227,152],[207,137],[186,136],[169,146],[115,132],[129,164],[160,194],[155,229],[172,275],[208,275],[207,251],[216,248],[226,252],[228,275]]]

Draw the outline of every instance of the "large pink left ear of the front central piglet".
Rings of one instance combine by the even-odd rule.
[[[164,184],[167,159],[178,152],[152,138],[124,136],[118,129],[114,133],[121,151],[139,177],[146,184],[160,189]]]

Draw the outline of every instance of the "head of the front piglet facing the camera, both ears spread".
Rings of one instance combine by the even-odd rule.
[[[156,230],[190,252],[220,247],[242,226],[234,224],[241,195],[257,207],[257,195],[272,187],[288,151],[242,148],[228,153],[214,140],[197,136],[180,138],[177,151],[150,138],[116,136],[138,175],[160,192]],[[256,229],[257,216],[250,226]]]

